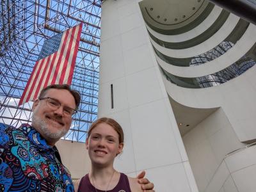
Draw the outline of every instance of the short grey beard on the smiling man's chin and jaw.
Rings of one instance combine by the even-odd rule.
[[[51,132],[52,125],[50,127],[47,127],[47,122],[45,122],[45,120],[43,120],[35,114],[33,114],[32,116],[32,122],[34,125],[36,125],[36,127],[38,127],[38,129],[40,129],[41,132],[44,133],[44,136],[52,140],[60,140],[60,138],[65,136],[65,134],[67,134],[68,132],[68,130],[65,129],[60,129],[57,132]]]

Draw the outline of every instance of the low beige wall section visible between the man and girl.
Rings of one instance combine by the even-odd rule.
[[[91,161],[84,143],[60,140],[56,143],[62,163],[68,168],[72,179],[80,179],[89,173]]]

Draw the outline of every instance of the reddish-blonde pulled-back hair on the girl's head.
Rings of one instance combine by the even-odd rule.
[[[92,125],[90,126],[88,133],[87,133],[87,138],[90,137],[90,134],[92,133],[92,130],[99,124],[108,124],[111,127],[113,127],[113,129],[117,132],[118,134],[118,138],[119,138],[119,143],[124,143],[124,131],[121,127],[121,125],[118,124],[118,122],[116,122],[115,120],[113,120],[113,118],[107,118],[107,117],[102,117],[102,118],[98,118],[95,122],[92,123]]]

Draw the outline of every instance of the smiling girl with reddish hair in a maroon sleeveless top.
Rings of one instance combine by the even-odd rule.
[[[111,118],[99,118],[91,125],[86,138],[86,148],[92,163],[92,170],[77,183],[78,192],[139,192],[142,191],[138,179],[127,177],[113,168],[115,157],[124,147],[122,127]],[[144,182],[147,189],[152,183]],[[146,189],[145,188],[145,189]],[[154,190],[152,190],[154,191]]]

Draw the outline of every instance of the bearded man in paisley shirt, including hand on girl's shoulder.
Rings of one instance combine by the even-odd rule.
[[[70,129],[79,103],[80,94],[67,84],[50,85],[33,104],[31,125],[0,124],[0,191],[74,191],[54,145]],[[144,175],[138,176],[141,188],[154,191]]]

